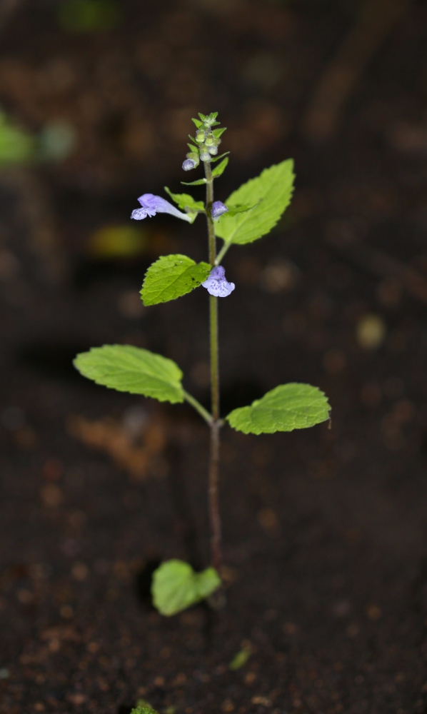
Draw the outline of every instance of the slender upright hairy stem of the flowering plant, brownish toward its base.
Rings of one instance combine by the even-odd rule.
[[[214,179],[211,164],[204,162],[206,176],[206,218],[208,221],[209,263],[215,266],[216,241],[215,226],[211,216],[214,203]],[[209,296],[209,333],[211,348],[211,453],[209,458],[209,523],[211,528],[211,562],[216,570],[221,568],[221,517],[219,515],[219,370],[218,370],[218,298]]]

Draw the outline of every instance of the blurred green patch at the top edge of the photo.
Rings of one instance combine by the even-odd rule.
[[[99,32],[114,29],[121,19],[116,0],[65,0],[57,11],[59,25],[67,32]]]

